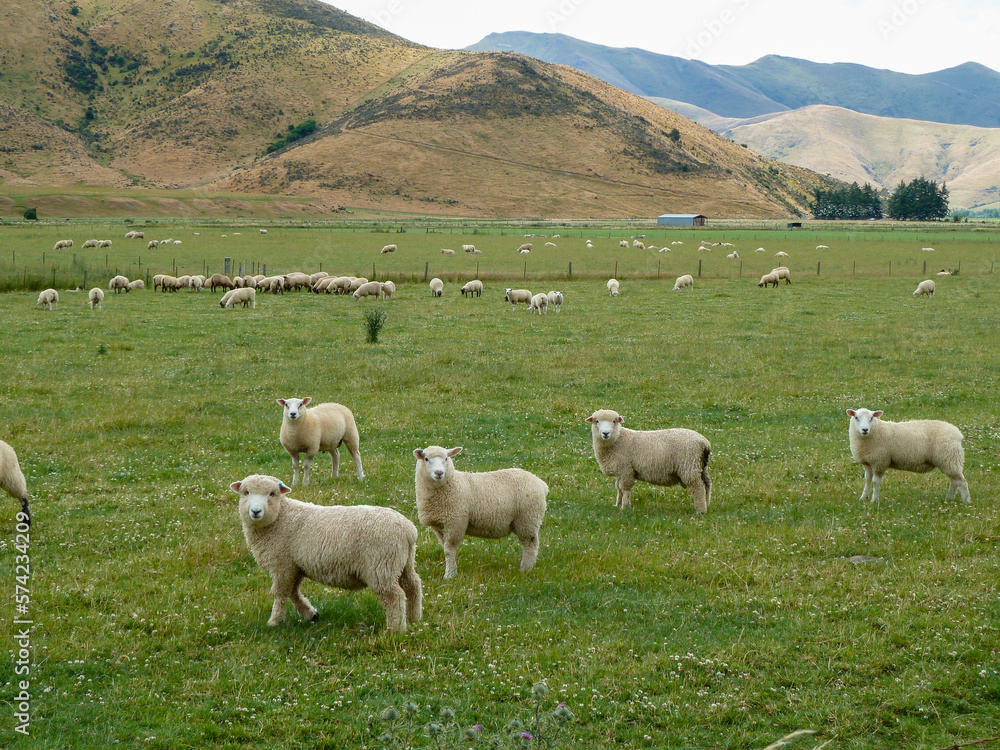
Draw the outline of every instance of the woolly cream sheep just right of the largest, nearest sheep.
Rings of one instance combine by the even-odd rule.
[[[444,577],[458,575],[458,545],[468,536],[502,539],[511,533],[521,542],[521,570],[535,565],[549,486],[524,469],[467,472],[452,458],[461,447],[417,448],[417,518],[429,526],[444,549]]]

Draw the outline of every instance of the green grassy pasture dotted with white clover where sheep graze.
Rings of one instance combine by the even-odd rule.
[[[564,736],[581,747],[763,748],[813,729],[793,747],[935,750],[1000,734],[996,235],[646,231],[647,244],[684,242],[657,253],[617,247],[634,231],[584,231],[587,250],[570,230],[518,256],[524,231],[161,227],[146,240],[182,244],[147,251],[126,230],[0,230],[0,280],[15,289],[0,294],[0,438],[18,451],[33,513],[24,738],[17,503],[0,498],[8,746],[378,748],[390,704],[414,701],[420,726],[451,707],[492,734],[527,719],[539,682],[546,707],[575,715]],[[75,261],[51,252],[64,235]],[[91,237],[114,245],[82,251]],[[733,242],[742,277],[727,249],[697,253],[700,238]],[[399,251],[379,255],[390,242]],[[758,289],[778,250],[793,283]],[[389,302],[261,294],[255,310],[147,289],[90,311],[85,290],[63,291],[84,272],[106,288],[116,270],[220,271],[223,256],[268,273],[369,276],[375,263],[398,288]],[[694,291],[671,292],[699,260]],[[928,275],[961,273],[914,299],[925,260]],[[477,262],[486,291],[464,299]],[[439,299],[425,263],[446,281]],[[48,286],[53,268],[60,304],[36,309],[37,291],[18,287]],[[504,286],[561,289],[566,302],[512,312]],[[388,315],[374,345],[362,318],[373,305]],[[535,569],[520,573],[513,537],[467,538],[445,582],[420,528],[424,618],[405,634],[385,631],[369,592],[309,582],[319,621],[290,610],[268,628],[270,580],[228,485],[290,482],[274,399],[306,395],[353,410],[367,478],[343,452],[331,479],[321,456],[293,497],[416,522],[412,450],[461,445],[459,469],[519,466],[549,484]],[[971,505],[945,501],[939,472],[890,471],[880,504],[860,502],[844,413],[858,406],[956,424]],[[615,509],[583,421],[602,407],[634,429],[711,441],[706,516],[682,488],[641,483],[632,509]]]

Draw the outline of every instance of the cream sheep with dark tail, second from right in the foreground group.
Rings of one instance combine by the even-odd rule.
[[[694,430],[630,430],[624,419],[611,409],[599,409],[587,417],[591,426],[594,458],[601,471],[615,477],[618,490],[615,506],[629,507],[632,485],[638,479],[660,486],[680,484],[694,499],[698,514],[708,510],[712,500],[712,480],[708,458],[712,446]]]

